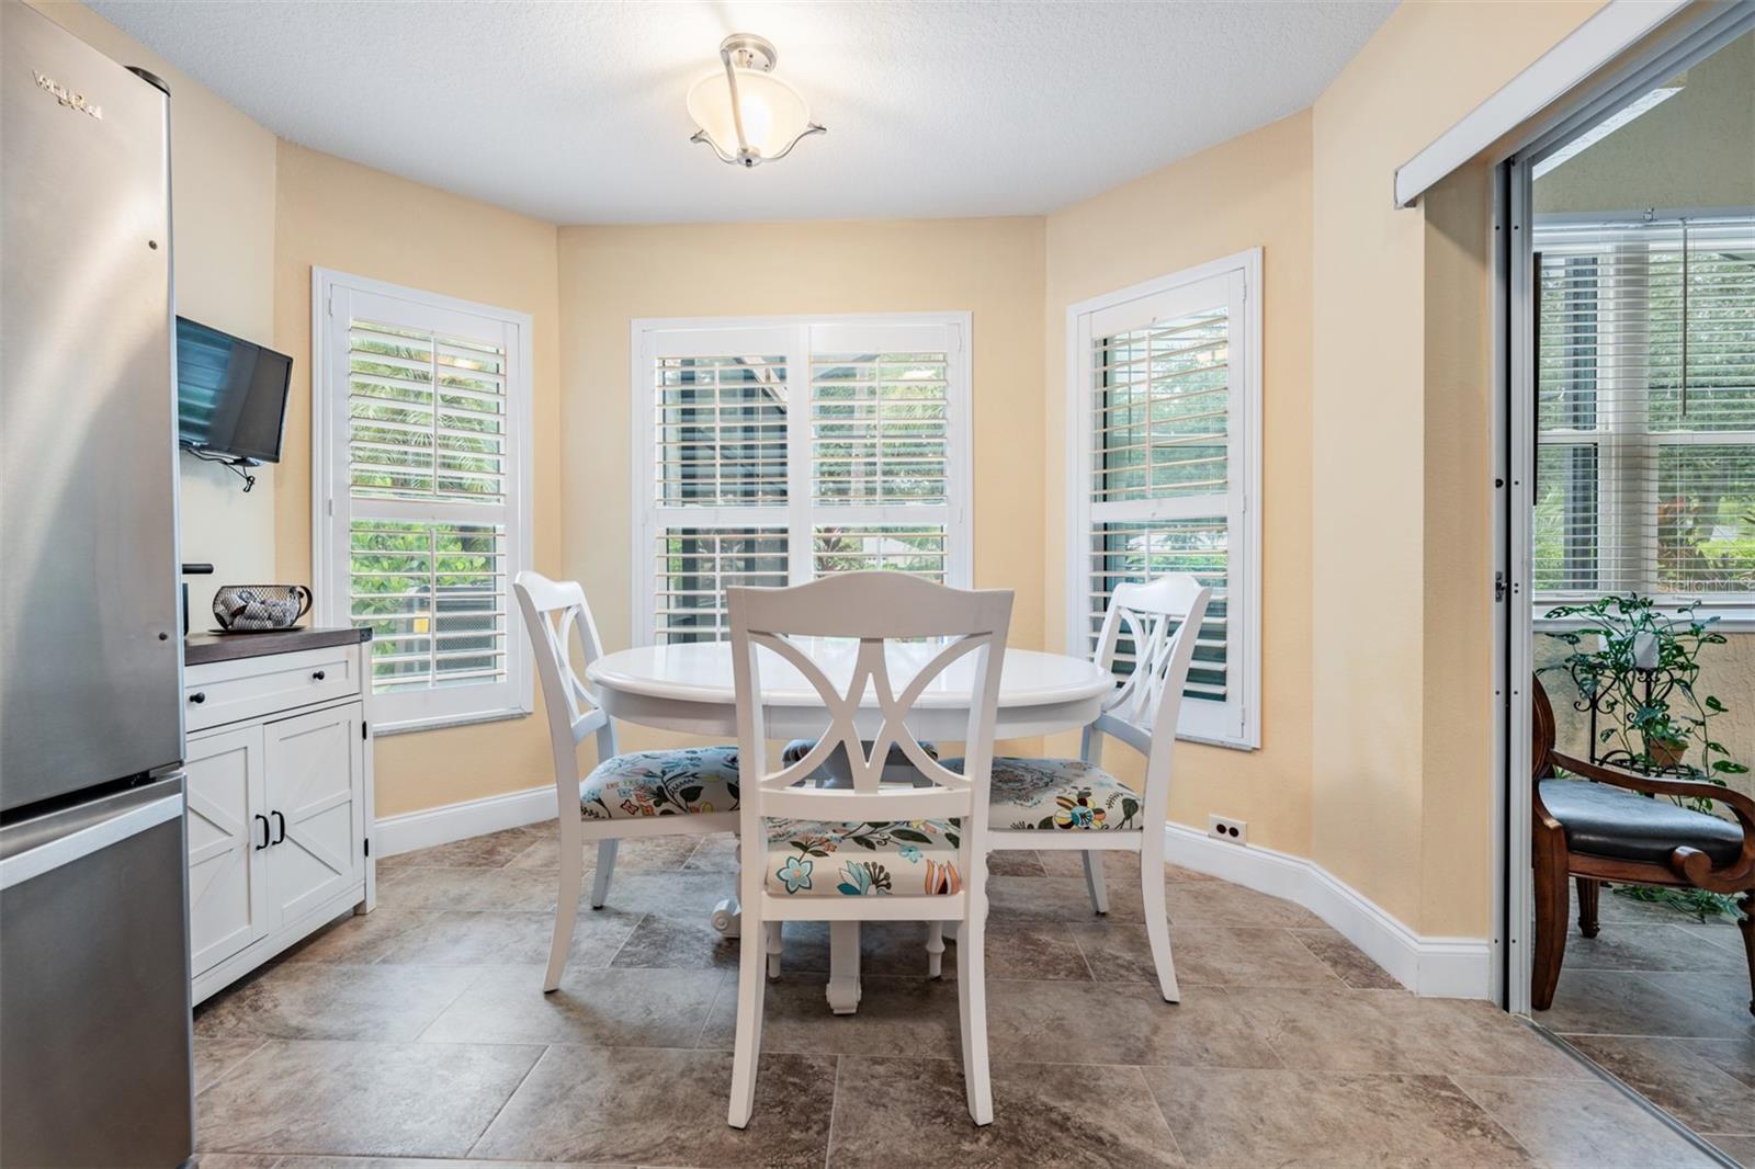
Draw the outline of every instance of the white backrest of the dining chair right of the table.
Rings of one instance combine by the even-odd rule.
[[[1193,663],[1195,639],[1211,599],[1211,588],[1178,572],[1143,584],[1116,584],[1109,613],[1104,614],[1097,665],[1114,669],[1125,635],[1134,669],[1104,702],[1097,721],[1086,728],[1083,755],[1088,762],[1099,762],[1102,735],[1111,734],[1146,757],[1146,807],[1141,823],[1164,823],[1169,807],[1176,721],[1183,688],[1188,685],[1188,667]]]

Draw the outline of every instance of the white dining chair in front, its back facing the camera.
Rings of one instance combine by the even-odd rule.
[[[728,588],[727,597],[744,797],[730,1123],[746,1127],[755,1108],[770,927],[858,920],[962,927],[956,995],[963,1087],[971,1118],[992,1123],[983,837],[1011,592],[963,592],[900,572],[848,572],[797,588]],[[811,646],[795,641],[806,637],[856,639],[851,676],[830,679],[807,653]],[[888,642],[897,639],[928,639],[918,646],[925,665],[900,688],[886,658]],[[965,656],[974,667],[967,753],[963,769],[949,771],[921,748],[909,716],[928,685]],[[802,758],[770,769],[763,679],[781,672],[781,662],[821,697],[827,728]],[[962,692],[960,681],[956,688]],[[862,711],[867,692],[876,707]],[[900,744],[918,778],[883,781],[892,744]],[[818,785],[814,772],[837,746],[846,749],[851,786]]]

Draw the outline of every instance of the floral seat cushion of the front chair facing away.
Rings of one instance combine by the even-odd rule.
[[[769,821],[767,892],[776,897],[958,893],[955,820]]]

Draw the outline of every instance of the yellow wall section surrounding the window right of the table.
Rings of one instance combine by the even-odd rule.
[[[1171,820],[1250,823],[1250,841],[1309,851],[1311,769],[1311,114],[1302,111],[1048,218],[1042,479],[1048,644],[1065,648],[1067,305],[1262,247],[1262,749],[1176,751]],[[1255,293],[1251,293],[1255,295]],[[1078,749],[1072,737],[1051,744]],[[1139,774],[1111,744],[1106,762]]]

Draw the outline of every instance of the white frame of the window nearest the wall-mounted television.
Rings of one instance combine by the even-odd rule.
[[[507,346],[507,472],[505,504],[505,681],[486,686],[441,686],[423,692],[383,693],[374,709],[383,721],[374,734],[402,734],[462,727],[469,723],[523,718],[534,709],[532,662],[528,637],[518,606],[512,604],[512,577],[532,567],[530,497],[532,497],[532,321],[528,312],[444,297],[418,288],[390,284],[332,269],[311,269],[311,570],[314,577],[312,620],[319,625],[347,625],[349,563],[349,472],[347,472],[347,321],[333,314],[337,293],[367,293],[407,300],[439,312],[467,312],[490,318],[516,332]],[[398,504],[411,520],[421,504]],[[370,642],[367,642],[370,655]],[[365,685],[372,671],[363,667]],[[491,693],[486,693],[491,692]],[[400,711],[400,713],[398,713]]]

